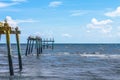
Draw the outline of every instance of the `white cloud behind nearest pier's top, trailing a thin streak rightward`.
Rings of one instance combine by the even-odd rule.
[[[11,27],[16,27],[20,23],[32,23],[32,22],[39,22],[33,19],[25,19],[25,20],[13,20],[12,17],[6,16],[6,20]]]

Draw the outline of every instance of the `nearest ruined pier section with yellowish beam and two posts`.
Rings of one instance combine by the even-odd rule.
[[[6,35],[6,43],[7,43],[7,51],[8,51],[8,63],[9,63],[9,72],[10,75],[14,75],[14,68],[11,56],[11,45],[10,45],[10,34],[16,35],[16,42],[17,42],[17,50],[18,50],[18,62],[19,62],[19,69],[22,71],[22,59],[21,59],[21,51],[20,51],[20,41],[19,41],[19,31],[18,27],[12,28],[5,20],[4,23],[0,22],[0,37],[2,34]]]

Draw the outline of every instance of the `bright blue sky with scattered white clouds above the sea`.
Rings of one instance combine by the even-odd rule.
[[[120,0],[0,0],[5,19],[19,27],[21,43],[36,35],[55,43],[120,43]]]

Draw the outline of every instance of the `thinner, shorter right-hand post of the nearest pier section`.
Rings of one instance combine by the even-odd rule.
[[[22,59],[21,59],[21,52],[20,52],[20,41],[19,41],[19,34],[18,27],[15,28],[16,30],[16,41],[17,41],[17,49],[18,49],[18,62],[19,62],[19,69],[22,71]]]

